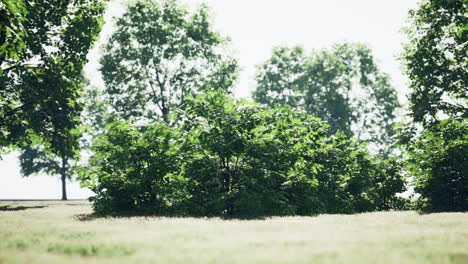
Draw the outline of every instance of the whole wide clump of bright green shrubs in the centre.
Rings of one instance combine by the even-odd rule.
[[[252,217],[399,208],[400,165],[292,108],[222,92],[188,100],[174,126],[108,126],[83,182],[100,214]]]

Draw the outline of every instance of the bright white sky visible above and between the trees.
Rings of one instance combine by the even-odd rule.
[[[406,41],[401,28],[417,0],[179,0],[195,8],[206,3],[211,8],[213,27],[231,39],[232,55],[239,60],[241,73],[235,87],[238,97],[249,97],[255,88],[255,66],[271,55],[275,46],[303,46],[307,52],[330,47],[337,42],[367,44],[383,72],[390,74],[401,103],[406,103],[407,80],[397,60]],[[91,82],[104,84],[98,71],[100,46],[111,35],[112,17],[125,8],[120,0],[110,3],[101,38],[88,55],[85,75]],[[18,153],[0,161],[0,199],[59,199],[57,175],[23,178]],[[92,195],[79,183],[67,185],[69,199]]]

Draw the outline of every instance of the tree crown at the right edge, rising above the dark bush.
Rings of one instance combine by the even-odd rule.
[[[467,118],[468,3],[424,0],[409,12],[402,60],[410,79],[411,116],[424,126]]]

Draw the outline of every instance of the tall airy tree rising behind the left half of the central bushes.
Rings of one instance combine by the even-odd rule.
[[[174,0],[131,3],[101,59],[113,114],[131,122],[168,122],[189,95],[228,90],[238,67],[219,52],[225,43],[204,5],[189,14]]]

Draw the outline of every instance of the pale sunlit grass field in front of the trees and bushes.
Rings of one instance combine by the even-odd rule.
[[[90,218],[88,202],[0,202],[0,263],[468,263],[468,213],[264,220]]]

